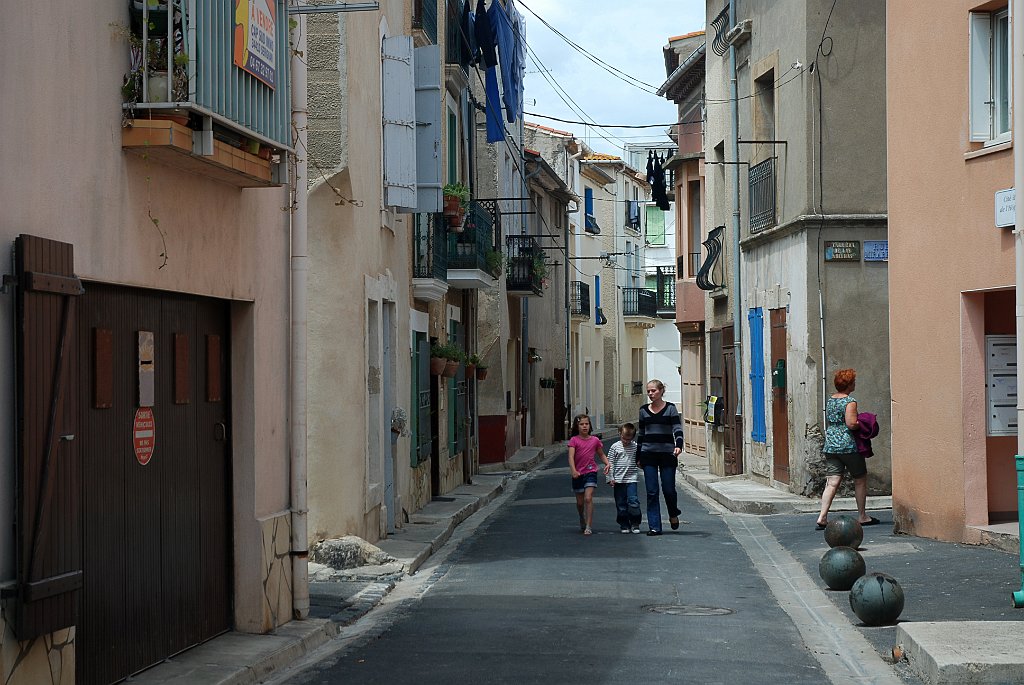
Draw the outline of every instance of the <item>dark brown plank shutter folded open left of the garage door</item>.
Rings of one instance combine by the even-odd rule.
[[[33,236],[15,242],[16,554],[18,640],[77,623],[82,587],[78,352],[73,247]]]

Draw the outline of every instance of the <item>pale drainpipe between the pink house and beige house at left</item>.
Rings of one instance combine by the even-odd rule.
[[[292,0],[300,7],[305,0]],[[306,17],[293,16],[292,127],[295,131],[295,173],[292,176],[292,383],[291,383],[291,501],[292,501],[292,615],[309,615],[309,556],[306,517],[306,283],[309,272],[306,209],[308,204],[306,160]]]

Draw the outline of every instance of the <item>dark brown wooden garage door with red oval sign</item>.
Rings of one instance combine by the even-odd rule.
[[[76,663],[80,685],[105,685],[230,629],[228,312],[213,299],[85,289]],[[140,332],[153,334],[148,461],[133,440]]]

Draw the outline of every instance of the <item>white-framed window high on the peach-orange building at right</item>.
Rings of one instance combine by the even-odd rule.
[[[1010,16],[971,12],[971,140],[1010,139]]]

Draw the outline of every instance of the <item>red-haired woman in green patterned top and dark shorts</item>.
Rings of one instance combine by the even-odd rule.
[[[818,514],[817,528],[821,530],[828,522],[828,508],[831,507],[836,491],[843,482],[843,475],[850,473],[853,478],[853,496],[857,501],[857,520],[861,525],[873,525],[879,519],[867,515],[867,464],[857,452],[853,433],[858,428],[857,399],[850,393],[857,385],[857,372],[841,369],[833,379],[836,394],[825,402],[825,444],[821,448],[825,458],[825,489],[821,493],[821,513]]]

